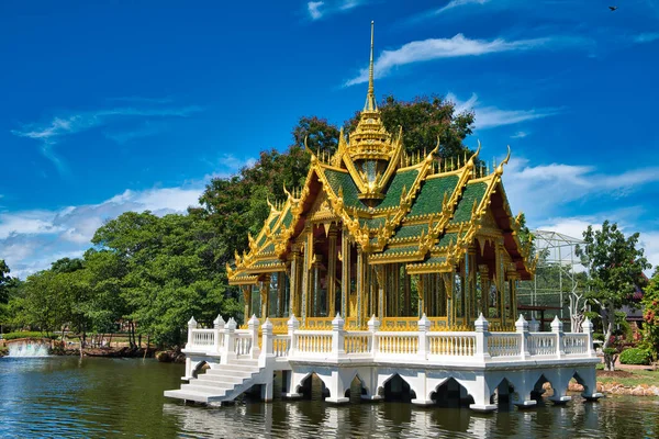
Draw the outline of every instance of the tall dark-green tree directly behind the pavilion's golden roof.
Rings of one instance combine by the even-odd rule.
[[[471,134],[472,113],[456,114],[454,103],[439,97],[398,101],[386,97],[379,105],[384,126],[392,134],[403,130],[403,145],[409,154],[431,150],[440,139],[440,157],[456,157],[471,151],[463,145]],[[359,112],[345,122],[346,131],[357,126]],[[338,145],[339,127],[326,120],[301,117],[292,130],[292,145],[286,153],[268,150],[254,166],[243,168],[230,178],[215,178],[200,198],[201,209],[191,213],[208,221],[215,235],[220,270],[234,259],[234,252],[247,249],[247,233],[257,234],[269,209],[267,198],[283,200],[283,187],[304,183],[310,156],[304,139],[313,151],[333,154]],[[237,295],[237,291],[234,292]]]

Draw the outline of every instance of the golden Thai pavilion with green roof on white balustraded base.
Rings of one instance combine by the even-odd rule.
[[[471,408],[491,410],[494,392],[514,389],[518,406],[550,382],[565,403],[576,378],[597,398],[592,324],[551,333],[517,318],[515,288],[532,279],[530,243],[520,238],[502,184],[505,159],[491,171],[471,157],[405,154],[402,131],[386,130],[373,91],[373,45],[366,104],[334,155],[309,150],[300,189],[270,203],[249,251],[227,266],[241,285],[245,317],[221,316],[213,328],[189,323],[186,376],[166,396],[203,403],[233,401],[261,387],[272,398],[272,373],[284,396],[299,395],[316,374],[343,403],[357,378],[362,397],[378,399],[395,375],[415,404],[433,404],[450,381]],[[579,328],[581,329],[581,328]],[[198,374],[201,364],[210,370]],[[451,385],[454,385],[451,384]]]

